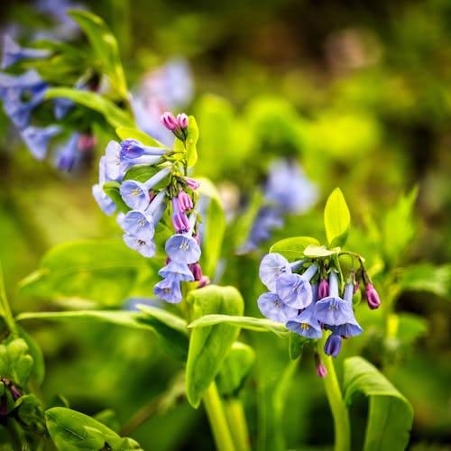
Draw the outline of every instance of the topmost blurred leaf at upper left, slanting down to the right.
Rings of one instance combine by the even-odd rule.
[[[109,31],[106,23],[96,14],[87,11],[72,10],[68,13],[87,35],[100,69],[109,78],[111,87],[126,99],[128,97],[124,69],[119,59],[119,51],[115,36]]]

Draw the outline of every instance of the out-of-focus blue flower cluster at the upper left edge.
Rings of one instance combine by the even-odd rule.
[[[22,60],[41,60],[50,56],[50,51],[22,48],[12,38],[5,36],[2,69],[8,69]],[[85,85],[78,88],[85,88]],[[0,73],[0,98],[3,100],[5,114],[37,160],[46,157],[51,139],[63,131],[60,125],[56,124],[44,127],[32,124],[32,112],[46,103],[48,88],[49,84],[34,69],[28,69],[20,75]],[[51,102],[55,121],[62,119],[74,105],[67,98],[54,98]],[[60,170],[71,170],[83,152],[91,149],[95,143],[89,133],[72,133],[67,142],[56,150],[56,167]]]

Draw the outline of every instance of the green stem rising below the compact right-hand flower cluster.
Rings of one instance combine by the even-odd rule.
[[[323,338],[323,345],[326,338]],[[321,346],[322,347],[322,346]],[[325,355],[322,362],[327,369],[327,376],[323,379],[329,401],[335,429],[335,451],[349,451],[351,448],[351,425],[349,414],[343,399],[340,385],[336,379],[336,369],[332,357]]]

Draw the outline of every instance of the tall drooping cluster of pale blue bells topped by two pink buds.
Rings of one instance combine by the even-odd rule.
[[[189,126],[187,115],[176,118],[164,113],[161,123],[185,143]],[[93,187],[98,205],[106,215],[112,215],[116,205],[106,194],[104,185],[107,181],[119,184],[118,192],[127,207],[117,215],[117,222],[124,230],[124,243],[144,257],[155,256],[155,229],[170,210],[170,215],[166,216],[170,217],[175,234],[166,241],[168,258],[158,272],[163,280],[153,290],[160,299],[170,303],[181,301],[181,281],[198,281],[199,287],[209,283],[198,263],[201,251],[194,207],[199,185],[197,180],[182,175],[180,161],[183,157],[179,158],[166,147],[146,146],[134,139],[121,143],[111,141],[99,161],[99,183]],[[135,166],[152,175],[144,181],[131,179],[127,171]]]

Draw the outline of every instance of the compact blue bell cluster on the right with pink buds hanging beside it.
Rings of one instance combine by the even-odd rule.
[[[260,264],[260,279],[270,292],[260,296],[258,306],[266,318],[285,323],[299,336],[318,339],[323,336],[323,330],[328,330],[324,352],[336,357],[343,338],[363,333],[353,309],[353,294],[359,283],[351,272],[340,296],[336,269],[325,271],[322,267],[320,273],[328,272],[328,277],[319,276],[320,264],[323,263],[319,259],[288,262],[280,253],[265,255]],[[377,308],[381,304],[379,296],[368,274],[362,273],[368,306]]]

